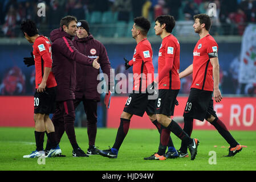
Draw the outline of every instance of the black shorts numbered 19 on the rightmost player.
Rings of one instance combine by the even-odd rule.
[[[204,121],[210,115],[217,117],[213,109],[212,91],[192,88],[189,93],[188,102],[186,102],[184,117],[190,117]]]

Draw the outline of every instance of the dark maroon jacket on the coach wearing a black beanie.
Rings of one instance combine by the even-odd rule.
[[[72,40],[72,42],[74,47],[78,49],[79,52],[83,53],[83,55],[86,55],[91,59],[96,59],[96,57],[99,56],[98,63],[100,64],[100,68],[103,73],[110,78],[111,66],[108,60],[107,51],[102,43],[95,40],[92,35],[88,35],[83,39],[79,39],[75,36],[75,39]],[[99,84],[97,76],[99,73],[99,69],[80,63],[76,64],[75,97],[77,99],[84,97],[86,100],[100,101],[100,94],[97,92],[97,85]]]

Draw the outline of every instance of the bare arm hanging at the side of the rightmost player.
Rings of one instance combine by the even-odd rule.
[[[221,91],[219,89],[220,65],[218,57],[211,58],[210,63],[213,65],[213,97],[216,102],[220,102],[222,100],[222,96]]]

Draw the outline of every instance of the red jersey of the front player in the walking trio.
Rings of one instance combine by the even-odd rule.
[[[133,90],[145,92],[147,86],[154,81],[152,56],[151,43],[147,38],[141,40],[134,50],[132,59]]]

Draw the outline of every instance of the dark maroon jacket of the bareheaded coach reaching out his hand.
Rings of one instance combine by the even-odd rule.
[[[92,61],[80,53],[72,43],[72,37],[62,28],[51,31],[52,72],[54,73],[57,90],[56,101],[75,99],[76,62],[92,67]]]

